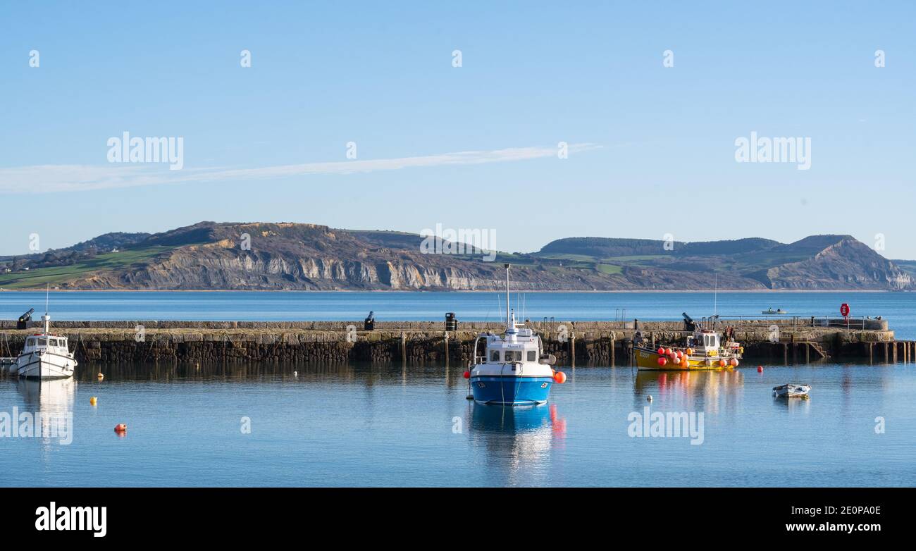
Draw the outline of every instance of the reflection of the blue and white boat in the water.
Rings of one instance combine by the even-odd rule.
[[[473,404],[471,443],[485,451],[491,485],[531,486],[551,481],[551,451],[562,448],[566,420],[557,405]]]

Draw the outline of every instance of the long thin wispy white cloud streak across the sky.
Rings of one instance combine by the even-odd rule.
[[[570,144],[569,153],[572,155],[600,147],[596,144]],[[422,157],[348,160],[255,168],[213,167],[169,170],[167,166],[158,164],[37,165],[0,168],[0,193],[49,193],[132,188],[158,184],[289,178],[320,174],[344,175],[416,167],[483,165],[556,156],[556,147],[509,147]]]

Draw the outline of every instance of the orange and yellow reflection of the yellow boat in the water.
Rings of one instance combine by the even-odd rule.
[[[634,405],[646,405],[652,396],[666,409],[729,411],[744,395],[744,373],[727,371],[646,372],[636,375]]]

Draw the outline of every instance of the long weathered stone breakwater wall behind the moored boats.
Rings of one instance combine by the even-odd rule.
[[[545,351],[559,365],[629,365],[637,330],[655,345],[682,345],[679,321],[530,322]],[[886,319],[735,319],[733,328],[748,360],[803,363],[836,361],[909,362],[916,341],[899,341]],[[0,356],[15,356],[26,330],[0,321]],[[442,322],[382,321],[372,330],[363,322],[340,321],[57,321],[52,332],[67,336],[82,363],[111,362],[453,362],[466,364],[474,338],[498,323],[463,322],[444,330]]]

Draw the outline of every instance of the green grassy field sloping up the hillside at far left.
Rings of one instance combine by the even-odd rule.
[[[157,246],[141,249],[129,249],[120,253],[105,253],[91,259],[68,266],[51,268],[33,268],[27,272],[0,274],[0,287],[6,289],[43,288],[46,285],[60,285],[77,276],[92,272],[124,268],[155,257],[157,254],[171,250],[173,247]]]

